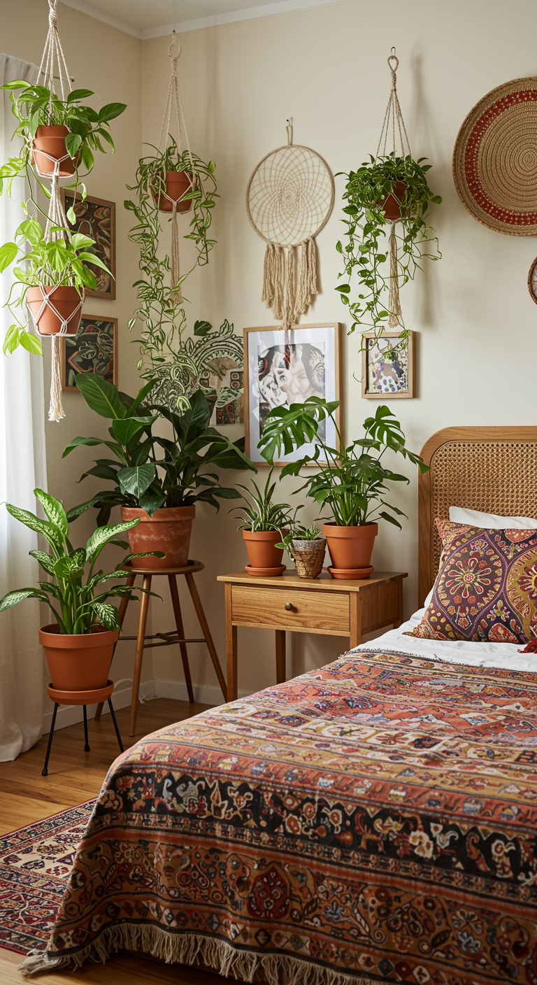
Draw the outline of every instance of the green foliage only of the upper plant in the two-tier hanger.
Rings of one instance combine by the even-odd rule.
[[[0,168],[0,194],[4,180],[9,194],[15,177],[25,174],[30,179],[30,170],[34,171],[31,163],[32,142],[37,127],[66,126],[70,133],[65,138],[65,148],[76,167],[74,185],[77,186],[79,183],[82,185],[82,195],[85,198],[86,187],[79,182],[78,169],[82,164],[86,168],[86,174],[92,170],[95,161],[94,152],[105,153],[102,142],[113,153],[114,145],[109,132],[110,120],[115,119],[127,108],[125,103],[108,102],[98,112],[82,101],[95,96],[90,89],[76,89],[69,93],[66,99],[58,99],[46,86],[29,86],[28,82],[22,79],[7,82],[4,86],[0,86],[0,89],[10,91],[12,112],[18,120],[13,136],[22,137],[24,141],[20,155],[10,158],[7,164]],[[39,181],[35,171],[34,177],[45,195],[49,197],[48,189]],[[36,202],[34,205],[38,208]],[[68,218],[71,223],[75,223],[74,212]]]

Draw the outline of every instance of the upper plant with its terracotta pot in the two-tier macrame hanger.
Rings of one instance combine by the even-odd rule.
[[[82,101],[95,96],[95,93],[89,89],[76,89],[69,93],[66,99],[58,99],[46,86],[30,86],[28,82],[21,79],[7,82],[4,86],[0,86],[0,89],[11,93],[12,112],[19,121],[13,136],[22,137],[24,141],[19,157],[10,158],[8,163],[0,168],[0,193],[2,179],[7,180],[9,193],[14,177],[24,173],[30,182],[29,168],[32,168],[38,181],[39,175],[52,175],[55,162],[60,162],[60,177],[75,174],[76,171],[74,182],[76,195],[80,165],[84,165],[86,173],[92,170],[94,152],[104,153],[102,141],[113,153],[114,145],[109,124],[110,120],[115,119],[127,108],[125,103],[108,102],[98,112]],[[46,189],[43,190],[48,194]],[[85,198],[84,185],[82,194]],[[37,207],[35,202],[34,205]],[[71,211],[69,210],[70,213]],[[74,224],[74,213],[68,218]]]

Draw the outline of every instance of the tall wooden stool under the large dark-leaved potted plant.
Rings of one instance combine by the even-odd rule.
[[[134,680],[132,685],[132,705],[131,705],[131,715],[130,715],[130,732],[129,735],[133,736],[136,732],[136,716],[138,712],[138,692],[140,690],[140,676],[142,673],[142,657],[144,650],[152,649],[157,646],[171,646],[173,643],[178,643],[181,651],[181,660],[184,671],[184,680],[186,682],[186,690],[188,692],[188,700],[192,704],[194,702],[194,691],[192,690],[192,679],[190,677],[190,667],[188,665],[188,653],[186,650],[187,643],[206,643],[209,653],[211,655],[211,660],[213,661],[213,667],[215,668],[218,682],[224,694],[224,700],[227,700],[227,685],[226,679],[222,672],[222,667],[220,666],[220,660],[218,659],[217,651],[215,649],[215,644],[213,642],[213,637],[211,636],[211,630],[209,629],[209,624],[205,618],[205,613],[203,611],[203,606],[201,604],[201,599],[198,595],[198,590],[196,588],[193,575],[198,571],[203,571],[205,564],[202,564],[199,560],[189,560],[185,567],[132,567],[130,564],[125,564],[125,567],[121,570],[129,572],[129,577],[127,578],[127,585],[130,587],[134,585],[134,580],[137,574],[142,575],[142,588],[145,592],[151,591],[151,583],[154,575],[166,574],[168,575],[169,583],[169,594],[171,595],[171,604],[173,606],[173,615],[175,617],[175,629],[171,629],[169,632],[156,632],[151,636],[146,636],[146,623],[147,614],[149,609],[149,599],[150,596],[147,594],[142,594],[140,600],[140,615],[138,618],[138,634],[136,636],[119,636],[119,641],[135,639],[136,640],[136,656],[134,658]],[[177,591],[177,574],[183,574],[185,577],[186,584],[188,586],[188,591],[194,603],[194,609],[196,610],[196,616],[203,632],[203,636],[185,639],[184,629],[182,627],[182,616],[181,607],[179,604],[179,593]],[[121,599],[119,604],[119,625],[123,625],[123,620],[125,619],[125,613],[127,611],[128,599]],[[149,640],[149,642],[146,642]],[[153,642],[157,640],[157,642]],[[117,644],[116,644],[117,645]],[[115,646],[114,646],[115,652]],[[113,658],[113,653],[112,653]],[[102,702],[99,704],[96,711],[96,722],[101,718]]]

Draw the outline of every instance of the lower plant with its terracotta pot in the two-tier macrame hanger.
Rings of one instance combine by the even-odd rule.
[[[13,317],[4,339],[4,354],[13,353],[23,346],[30,353],[41,354],[41,344],[29,330],[29,318],[21,319],[17,309],[28,303],[34,322],[41,335],[57,335],[62,323],[67,322],[67,335],[76,335],[82,314],[84,289],[97,288],[95,274],[88,264],[107,270],[99,256],[93,252],[95,239],[81,232],[68,238],[60,236],[45,242],[43,230],[35,219],[27,219],[15,233],[15,242],[0,247],[0,272],[11,264],[19,282],[19,291],[11,291],[6,305]],[[31,244],[28,251],[27,244]],[[45,297],[50,302],[45,301]]]

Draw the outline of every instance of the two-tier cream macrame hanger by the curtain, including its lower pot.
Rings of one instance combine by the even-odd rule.
[[[56,95],[54,89],[54,79],[57,78],[60,84],[61,99],[64,100],[71,92],[71,81],[58,34],[56,5],[57,0],[48,0],[48,6],[50,8],[48,12],[48,33],[44,43],[38,79],[40,80],[41,76],[44,76],[43,85],[50,90],[50,94],[52,96]],[[55,65],[57,68],[57,76],[54,75]],[[50,204],[48,207],[48,217],[44,230],[44,239],[45,241],[51,241],[53,239],[59,239],[62,236],[65,239],[68,239],[70,238],[70,235],[67,217],[61,201],[58,178],[73,174],[74,167],[72,165],[71,158],[68,154],[63,157],[55,158],[42,149],[35,151],[34,148],[32,154],[36,173],[41,178],[50,179]],[[64,162],[66,162],[66,164],[64,164]],[[57,227],[61,227],[61,230],[58,230]],[[33,294],[36,293],[37,295],[36,300],[29,301],[29,307],[34,318],[35,331],[41,336],[46,334],[47,338],[50,338],[51,343],[52,371],[50,379],[50,406],[48,409],[48,420],[61,421],[61,419],[65,417],[65,412],[61,401],[60,337],[67,334],[76,334],[80,324],[80,315],[82,305],[84,304],[85,291],[84,288],[78,289],[76,287],[70,287],[68,289],[69,292],[73,293],[75,296],[73,302],[73,300],[65,300],[61,297],[62,293],[65,292],[65,289],[61,287],[37,287],[30,290],[32,290]],[[57,298],[55,296],[57,296]],[[43,314],[46,314],[47,309],[49,309],[61,323],[59,332],[54,335],[41,333],[39,330],[39,322],[41,321]]]

